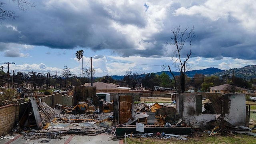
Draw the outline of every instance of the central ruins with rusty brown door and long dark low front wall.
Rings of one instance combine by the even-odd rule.
[[[123,136],[125,133],[137,134],[136,124],[144,124],[145,133],[189,135],[191,127],[180,120],[176,109],[162,106],[158,103],[148,105],[134,104],[134,94],[119,93],[114,95],[114,135]]]

